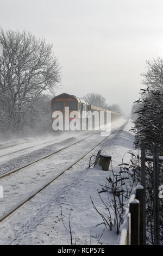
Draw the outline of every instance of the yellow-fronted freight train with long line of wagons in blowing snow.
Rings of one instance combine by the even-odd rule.
[[[100,120],[102,120],[100,117],[102,115],[101,113],[103,113],[104,125],[107,123],[106,119],[108,114],[110,114],[110,121],[114,121],[121,117],[121,113],[112,112],[109,111],[109,109],[90,105],[85,100],[66,93],[55,96],[51,101],[52,124],[54,124],[56,128],[59,120],[61,121],[61,129],[54,129],[53,127],[53,130],[69,130],[65,124],[65,120],[68,126],[70,123],[78,123],[79,129],[71,130],[91,130],[89,129],[90,124],[92,125],[92,130],[98,130],[100,126],[98,126],[97,123],[100,123]],[[62,120],[59,117],[60,114]],[[92,114],[91,122],[89,122],[90,114]],[[96,129],[97,126],[98,129]]]

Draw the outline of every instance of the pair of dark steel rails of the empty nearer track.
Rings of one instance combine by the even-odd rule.
[[[125,124],[126,124],[126,123],[125,123]],[[117,129],[117,130],[121,130],[122,127],[123,127],[125,124],[123,124],[123,125],[122,125],[119,129]],[[115,131],[117,131],[117,130],[115,130]],[[111,134],[114,133],[115,131],[111,132]],[[97,133],[99,133],[99,132],[97,132]],[[97,134],[97,133],[96,133],[96,134]],[[95,135],[95,134],[93,134],[93,135]],[[93,135],[87,136],[86,138],[92,137]],[[110,136],[110,135],[109,135],[109,136]],[[46,188],[48,185],[50,185],[54,180],[56,180],[57,178],[59,178],[59,176],[61,176],[62,174],[64,174],[67,170],[69,170],[69,169],[70,169],[71,167],[73,167],[76,163],[78,163],[80,160],[82,160],[87,154],[89,154],[93,149],[95,149],[96,147],[98,147],[98,145],[101,144],[102,142],[104,142],[105,139],[107,139],[109,136],[106,136],[104,139],[102,139],[102,141],[100,141],[99,143],[97,143],[93,148],[91,148],[89,151],[87,151],[85,154],[83,154],[81,157],[79,157],[78,160],[74,161],[73,163],[70,164],[70,166],[68,166],[67,168],[65,168],[64,170],[62,170],[60,173],[58,173],[57,175],[55,175],[53,178],[49,179],[49,181],[47,181],[45,184],[43,184],[43,185],[42,185],[40,188],[38,188],[35,192],[32,192],[31,194],[29,194],[28,197],[26,197],[25,199],[23,199],[23,201],[22,201],[21,203],[18,203],[16,206],[14,206],[12,209],[10,209],[7,213],[5,213],[3,216],[1,216],[1,217],[0,217],[0,222],[2,222],[5,218],[7,218],[8,216],[10,216],[12,213],[14,213],[18,208],[20,208],[22,205],[24,205],[25,203],[27,203],[31,198],[33,198],[34,196],[36,196],[36,194],[38,194],[38,193],[41,192],[44,188]],[[25,167],[27,167],[27,166],[29,166],[29,165],[31,165],[31,164],[34,164],[34,163],[36,163],[36,162],[38,162],[38,161],[40,161],[40,160],[42,160],[42,159],[46,159],[46,158],[49,157],[49,156],[52,156],[52,155],[54,155],[54,154],[57,154],[59,151],[62,151],[62,150],[67,149],[67,148],[70,148],[70,147],[72,147],[72,145],[77,144],[77,143],[79,143],[79,142],[81,142],[81,141],[84,141],[84,139],[86,139],[86,138],[80,139],[80,141],[78,141],[78,142],[75,142],[75,143],[73,143],[73,144],[71,144],[71,145],[68,145],[68,146],[66,146],[66,147],[64,147],[64,148],[61,148],[61,149],[59,149],[59,150],[57,150],[57,151],[55,151],[55,152],[53,152],[53,153],[51,153],[51,154],[48,154],[48,155],[46,155],[46,156],[43,156],[43,157],[41,157],[40,159],[37,159],[36,161],[33,161],[33,162],[31,162],[31,163],[28,163],[28,164],[26,164],[25,166],[22,166],[22,167],[20,167],[20,168],[17,168],[17,169],[15,169],[15,170],[12,170],[11,172],[9,172],[9,173],[7,173],[7,174],[3,174],[3,175],[0,176],[0,179],[4,178],[5,176],[8,176],[8,175],[10,175],[10,174],[12,174],[12,173],[15,173],[15,172],[17,172],[18,170],[21,170],[21,169],[23,169],[23,168],[25,168]]]

